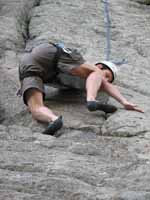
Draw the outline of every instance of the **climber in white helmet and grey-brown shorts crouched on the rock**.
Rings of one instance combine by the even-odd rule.
[[[63,126],[62,116],[54,114],[43,101],[44,84],[58,80],[61,73],[85,80],[86,106],[89,111],[102,110],[106,113],[116,111],[115,106],[96,101],[97,93],[103,90],[120,102],[125,109],[143,112],[126,100],[112,84],[117,74],[117,67],[113,63],[104,61],[95,65],[88,64],[76,49],[44,43],[23,57],[19,66],[19,78],[24,103],[33,118],[48,123],[45,134],[54,135]],[[61,82],[60,79],[58,81]]]

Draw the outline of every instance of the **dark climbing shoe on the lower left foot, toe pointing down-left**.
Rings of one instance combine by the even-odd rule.
[[[63,120],[62,120],[62,116],[60,116],[55,121],[49,123],[48,127],[43,132],[43,134],[54,136],[55,132],[61,129],[62,126],[63,126]]]

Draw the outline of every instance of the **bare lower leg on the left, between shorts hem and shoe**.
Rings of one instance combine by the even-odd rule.
[[[44,105],[43,94],[39,90],[29,89],[26,92],[26,99],[34,119],[42,122],[50,122],[58,118],[58,116]]]

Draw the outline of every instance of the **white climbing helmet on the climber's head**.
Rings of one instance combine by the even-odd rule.
[[[117,74],[118,74],[117,66],[114,63],[110,62],[110,61],[101,61],[99,63],[96,63],[96,65],[98,65],[98,64],[103,64],[103,65],[105,65],[105,67],[107,67],[108,69],[111,70],[111,72],[113,74],[113,80],[112,80],[112,82],[113,82],[116,79]]]

